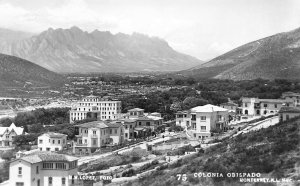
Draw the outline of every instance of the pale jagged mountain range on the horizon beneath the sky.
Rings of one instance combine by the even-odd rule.
[[[88,33],[78,27],[49,28],[19,42],[0,43],[0,52],[59,73],[177,71],[202,63],[156,37],[98,30]]]

